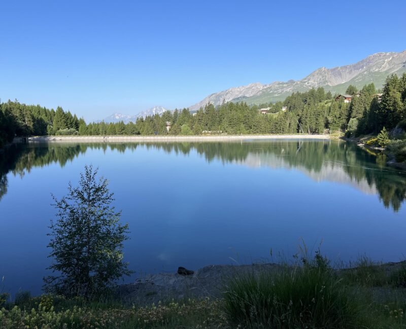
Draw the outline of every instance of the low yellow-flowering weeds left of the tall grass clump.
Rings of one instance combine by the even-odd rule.
[[[180,304],[152,305],[146,308],[100,309],[94,305],[55,311],[49,307],[53,300],[50,295],[42,299],[46,305],[32,310],[22,310],[18,306],[10,310],[0,310],[0,327],[3,329],[19,328],[219,328],[225,327],[219,301],[189,300]]]

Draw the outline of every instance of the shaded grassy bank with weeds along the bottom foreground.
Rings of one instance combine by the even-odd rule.
[[[406,264],[366,257],[334,270],[320,254],[279,271],[234,276],[217,300],[181,300],[148,307],[114,298],[63,296],[14,302],[0,297],[1,328],[404,328]]]

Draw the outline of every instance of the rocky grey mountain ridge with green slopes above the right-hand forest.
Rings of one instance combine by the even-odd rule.
[[[381,88],[389,74],[400,75],[403,72],[406,72],[406,50],[379,52],[355,64],[332,69],[322,67],[298,81],[276,81],[269,84],[256,82],[246,86],[233,87],[209,95],[190,106],[189,109],[195,111],[207,103],[220,105],[223,101],[245,101],[250,105],[282,101],[293,92],[304,92],[318,87],[324,87],[326,91],[331,91],[333,94],[344,93],[350,84],[362,88],[363,85],[374,82],[377,88]]]

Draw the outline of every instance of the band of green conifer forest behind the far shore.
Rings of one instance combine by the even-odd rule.
[[[350,85],[352,100],[325,92],[324,88],[296,92],[285,101],[260,105],[207,104],[197,112],[188,109],[166,111],[162,115],[139,118],[135,123],[89,123],[64,111],[17,100],[0,104],[0,146],[15,136],[30,135],[199,135],[222,134],[323,134],[346,133],[357,136],[376,134],[384,127],[406,126],[406,74],[387,77],[382,90],[373,83],[361,90]],[[282,108],[284,107],[284,110]],[[259,109],[268,108],[267,113]],[[171,128],[167,131],[166,123]]]

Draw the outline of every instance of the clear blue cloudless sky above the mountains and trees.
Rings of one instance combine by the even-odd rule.
[[[0,98],[87,121],[406,49],[406,1],[2,1]]]

